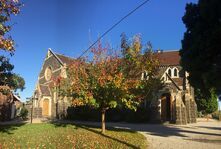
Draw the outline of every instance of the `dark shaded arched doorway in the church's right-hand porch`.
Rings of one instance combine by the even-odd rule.
[[[171,95],[165,93],[161,96],[161,121],[171,121]]]

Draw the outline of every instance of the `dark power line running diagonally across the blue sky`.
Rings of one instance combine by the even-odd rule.
[[[140,7],[142,7],[143,5],[145,5],[148,1],[150,0],[145,0],[143,3],[141,3],[140,5],[138,5],[135,9],[133,9],[132,11],[130,11],[127,15],[125,15],[124,17],[122,17],[118,22],[116,22],[113,26],[111,26],[106,32],[104,32],[92,45],[90,45],[79,57],[81,58],[88,50],[90,50],[101,38],[103,38],[106,34],[108,34],[112,29],[114,29],[118,24],[120,24],[124,19],[126,19],[127,17],[129,17],[131,14],[133,14],[136,10],[138,10]]]

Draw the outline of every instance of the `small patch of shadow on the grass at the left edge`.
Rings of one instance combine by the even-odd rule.
[[[26,123],[19,123],[19,124],[4,124],[0,125],[0,133],[7,133],[7,134],[14,134],[13,131],[18,129],[19,127],[25,125]]]

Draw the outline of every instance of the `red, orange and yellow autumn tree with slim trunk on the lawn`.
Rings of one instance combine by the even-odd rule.
[[[102,133],[105,132],[105,113],[109,108],[125,105],[136,110],[139,104],[125,79],[119,55],[101,43],[91,49],[93,59],[76,60],[68,68],[68,77],[61,81],[61,90],[72,97],[74,106],[89,105],[99,108],[102,119]]]

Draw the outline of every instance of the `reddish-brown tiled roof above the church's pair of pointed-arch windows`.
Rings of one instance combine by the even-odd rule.
[[[156,53],[160,65],[180,65],[179,51],[162,51]]]

